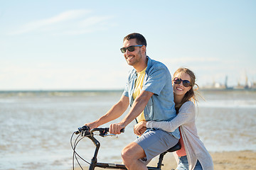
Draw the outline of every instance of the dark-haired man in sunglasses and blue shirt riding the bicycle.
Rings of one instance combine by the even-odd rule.
[[[98,120],[85,125],[90,129],[119,118],[130,105],[129,113],[120,123],[110,125],[110,133],[119,134],[135,118],[138,120],[172,120],[176,116],[171,74],[161,62],[146,56],[146,39],[139,33],[127,35],[121,48],[127,64],[134,67],[129,72],[129,79],[124,93],[110,111]],[[146,130],[122,150],[122,159],[127,169],[147,169],[146,161],[161,154],[177,144],[180,135],[163,130]]]

